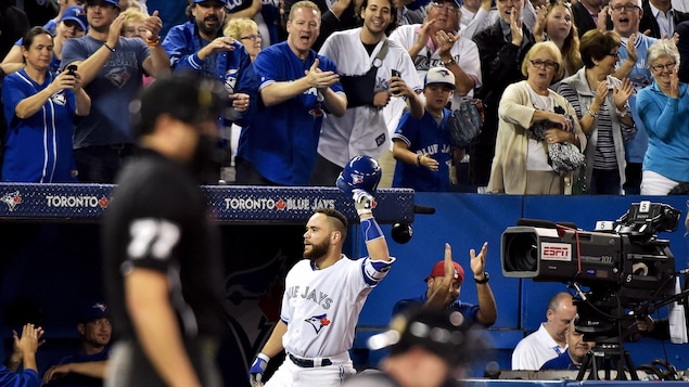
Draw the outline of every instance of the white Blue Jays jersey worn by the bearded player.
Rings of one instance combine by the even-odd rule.
[[[286,275],[282,296],[285,351],[299,358],[328,358],[349,350],[363,302],[394,261],[342,255],[326,269],[316,269],[308,259],[298,261]]]

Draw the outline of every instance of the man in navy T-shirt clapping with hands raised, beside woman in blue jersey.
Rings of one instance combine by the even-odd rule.
[[[129,103],[142,87],[142,74],[169,73],[169,59],[160,44],[163,21],[157,12],[146,18],[148,46],[142,39],[120,37],[124,15],[119,0],[88,0],[86,36],[69,39],[60,68],[77,65],[91,98],[91,114],[74,132],[74,158],[82,182],[112,183],[124,162],[136,154]]]

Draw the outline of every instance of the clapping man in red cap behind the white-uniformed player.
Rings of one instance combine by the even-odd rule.
[[[485,259],[488,251],[488,243],[484,243],[481,253],[472,248],[469,251],[471,256],[471,271],[476,283],[476,295],[479,305],[462,302],[459,299],[461,285],[464,282],[464,269],[461,265],[452,261],[452,250],[448,243],[445,244],[445,260],[438,261],[433,267],[431,274],[425,279],[426,292],[417,297],[401,299],[395,304],[393,315],[403,311],[412,304],[425,304],[428,306],[457,310],[464,317],[464,325],[473,325],[475,323],[490,326],[498,318],[497,307],[493,291],[488,285],[488,273],[484,271]]]

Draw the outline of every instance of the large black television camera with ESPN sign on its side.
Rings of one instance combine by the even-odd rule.
[[[680,214],[666,204],[633,203],[616,221],[597,222],[594,232],[520,219],[502,233],[502,274],[567,283],[576,293],[576,330],[596,341],[595,350],[612,348],[612,357],[625,357],[633,369],[622,348],[633,332],[627,327],[675,296],[675,257],[669,241],[655,234],[674,232]]]

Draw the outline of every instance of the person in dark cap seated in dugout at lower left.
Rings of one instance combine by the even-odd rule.
[[[43,384],[51,387],[97,387],[103,385],[110,356],[113,327],[107,306],[95,302],[87,306],[77,331],[80,336],[78,353],[67,356],[46,371]]]

